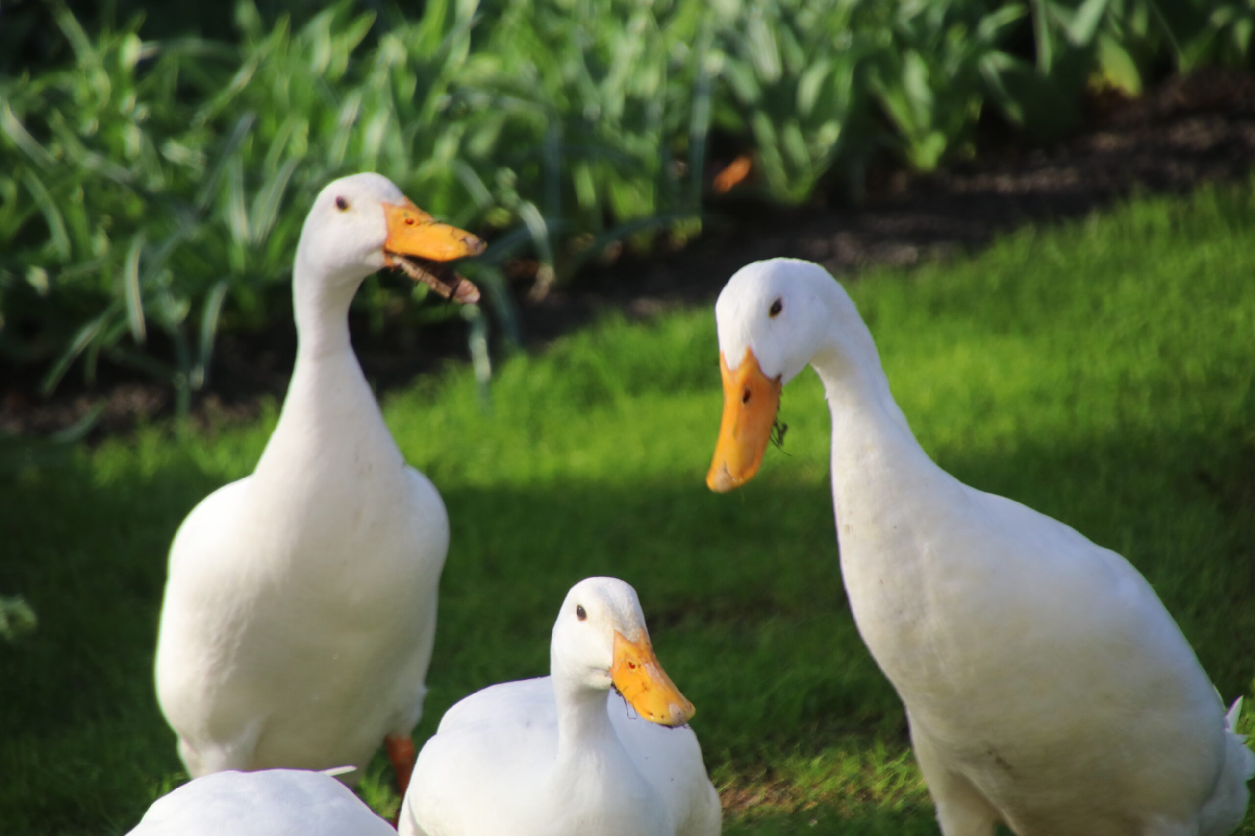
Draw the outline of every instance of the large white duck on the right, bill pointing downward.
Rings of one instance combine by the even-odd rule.
[[[715,306],[717,491],[754,475],[781,389],[814,367],[832,412],[841,569],[906,704],[945,836],[1220,836],[1251,752],[1123,558],[963,485],[916,442],[871,333],[822,267],[749,264]]]

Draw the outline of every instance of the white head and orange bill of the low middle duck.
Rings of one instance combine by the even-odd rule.
[[[654,656],[636,590],[615,578],[571,588],[553,624],[550,664],[555,679],[617,688],[641,717],[661,726],[683,726],[695,711]]]

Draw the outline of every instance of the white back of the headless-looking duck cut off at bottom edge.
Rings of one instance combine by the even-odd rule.
[[[127,836],[397,836],[319,772],[217,772],[153,802]]]

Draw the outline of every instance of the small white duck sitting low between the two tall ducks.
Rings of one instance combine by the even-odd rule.
[[[698,738],[674,728],[693,704],[654,656],[631,587],[589,578],[571,589],[550,669],[484,688],[444,714],[418,756],[402,836],[719,832],[719,795]]]

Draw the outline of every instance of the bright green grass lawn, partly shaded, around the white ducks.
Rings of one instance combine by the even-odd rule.
[[[1226,699],[1255,673],[1251,241],[1251,191],[1205,192],[850,283],[939,464],[1128,556]],[[787,455],[719,496],[717,356],[709,310],[611,317],[505,363],[489,412],[464,368],[388,400],[453,524],[418,738],[467,693],[545,673],[566,589],[612,574],[698,706],[727,832],[935,833],[842,592],[818,381],[784,396]],[[0,644],[5,833],[124,832],[183,780],[151,684],[166,548],[274,420],[147,427],[0,486],[0,593],[39,614]],[[380,807],[384,778],[378,758]]]

